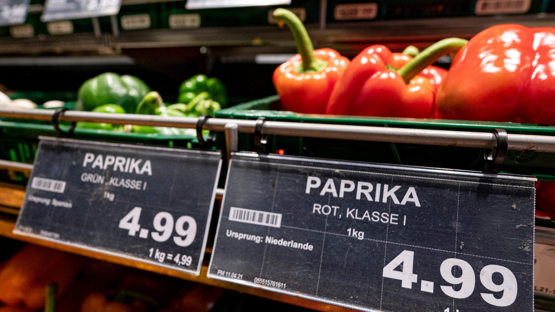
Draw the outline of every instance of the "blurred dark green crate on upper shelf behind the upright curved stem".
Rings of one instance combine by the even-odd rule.
[[[319,21],[319,2],[292,0],[288,6],[253,6],[219,9],[185,9],[185,1],[162,3],[163,28],[264,26],[274,24],[271,11],[288,8],[301,16],[305,24]]]

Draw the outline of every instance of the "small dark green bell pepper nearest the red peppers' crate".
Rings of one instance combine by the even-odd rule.
[[[220,103],[222,107],[228,104],[228,93],[221,80],[215,77],[208,78],[203,74],[195,75],[181,83],[178,102],[188,104],[201,92],[208,92],[208,98]]]

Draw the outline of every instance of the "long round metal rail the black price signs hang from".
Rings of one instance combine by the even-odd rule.
[[[51,120],[54,111],[49,109],[10,110],[0,109],[0,117]],[[98,122],[113,124],[138,124],[158,127],[195,128],[197,118],[162,117],[139,114],[110,114],[68,111],[59,117],[66,122]],[[225,125],[234,123],[238,132],[254,133],[255,120],[210,118],[204,129],[225,131]],[[291,135],[312,138],[364,140],[374,142],[412,143],[445,145],[454,147],[496,148],[493,133],[453,130],[406,129],[388,127],[368,127],[361,125],[316,124],[267,121],[263,134]],[[555,136],[509,134],[509,150],[533,150],[555,153]]]

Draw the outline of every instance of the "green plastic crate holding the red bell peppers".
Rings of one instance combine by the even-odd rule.
[[[274,95],[219,110],[216,112],[216,117],[250,120],[254,120],[258,117],[265,117],[266,120],[284,122],[369,125],[374,127],[401,127],[473,132],[491,132],[493,128],[503,128],[507,130],[508,133],[555,135],[555,127],[534,124],[300,114],[284,112],[279,109],[279,96]],[[255,150],[252,134],[240,134],[239,138],[239,148],[241,150]],[[217,140],[218,148],[225,147],[225,142],[223,141],[224,140],[220,139]],[[266,152],[284,152],[289,155],[365,162],[482,170],[483,153],[486,151],[478,148],[271,135],[268,140]],[[509,150],[501,170],[510,173],[533,174],[537,175],[542,180],[554,180],[555,154]]]

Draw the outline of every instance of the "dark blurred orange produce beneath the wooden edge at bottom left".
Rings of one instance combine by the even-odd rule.
[[[0,263],[0,289],[1,312],[208,312],[224,293],[32,244]]]

